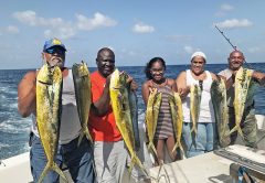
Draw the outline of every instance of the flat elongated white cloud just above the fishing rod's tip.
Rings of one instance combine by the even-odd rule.
[[[214,25],[218,25],[220,28],[226,28],[226,29],[234,29],[234,28],[247,28],[252,26],[252,22],[247,19],[231,19],[231,20],[225,20],[223,22],[214,23]]]

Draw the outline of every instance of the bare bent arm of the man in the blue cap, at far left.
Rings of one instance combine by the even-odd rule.
[[[29,72],[18,86],[18,109],[23,118],[35,112],[35,78],[36,72]]]

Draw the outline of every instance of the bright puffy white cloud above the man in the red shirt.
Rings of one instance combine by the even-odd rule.
[[[99,12],[96,12],[92,19],[77,14],[77,28],[82,31],[91,31],[103,26],[115,26],[117,22]]]

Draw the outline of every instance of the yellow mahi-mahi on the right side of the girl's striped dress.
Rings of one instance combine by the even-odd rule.
[[[177,148],[180,148],[180,150],[183,152],[183,148],[181,144],[183,110],[182,110],[182,101],[179,93],[173,93],[172,96],[171,95],[169,96],[169,106],[170,106],[171,119],[172,119],[174,138],[176,138],[176,143],[172,149],[172,152],[174,152]]]

